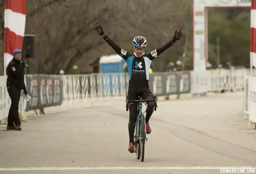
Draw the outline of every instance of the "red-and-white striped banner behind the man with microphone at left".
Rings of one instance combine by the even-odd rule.
[[[15,49],[22,49],[26,25],[26,0],[5,0],[4,75]]]

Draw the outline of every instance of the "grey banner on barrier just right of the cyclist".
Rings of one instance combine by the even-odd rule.
[[[171,72],[150,74],[149,86],[153,95],[165,96],[190,92],[190,73]]]

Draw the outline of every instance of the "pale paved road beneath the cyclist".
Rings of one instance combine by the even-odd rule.
[[[242,92],[159,101],[150,125],[152,133],[145,145],[144,162],[127,150],[128,112],[124,102],[117,100],[112,106],[32,116],[23,123],[21,132],[6,132],[2,125],[0,168],[66,167],[66,170],[19,169],[0,174],[134,173],[127,167],[139,167],[138,174],[188,174],[220,173],[219,169],[199,170],[201,166],[256,166],[256,130],[243,120]],[[82,166],[106,168],[67,170]]]

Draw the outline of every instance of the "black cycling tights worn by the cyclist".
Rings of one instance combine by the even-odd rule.
[[[146,89],[142,92],[135,92],[134,90],[128,89],[128,96],[129,100],[139,100],[138,96],[142,97],[143,100],[154,100],[154,96],[150,89]],[[129,143],[134,142],[133,135],[135,131],[136,121],[138,118],[138,103],[137,102],[129,102],[129,123],[128,123],[128,130],[129,130]],[[151,115],[154,112],[154,102],[147,102],[147,106],[149,109],[146,110],[146,118],[145,121],[148,122]]]

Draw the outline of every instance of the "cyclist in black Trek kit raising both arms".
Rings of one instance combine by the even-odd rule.
[[[145,54],[144,49],[147,46],[146,38],[142,36],[136,36],[133,41],[133,50],[134,53],[127,53],[125,50],[116,45],[103,31],[100,23],[97,22],[97,25],[94,27],[95,31],[115,50],[115,52],[125,59],[128,71],[129,71],[129,87],[128,87],[128,96],[130,100],[137,100],[138,96],[141,96],[143,100],[154,100],[154,96],[150,91],[148,86],[149,78],[149,69],[152,60],[157,56],[163,53],[166,49],[171,47],[177,40],[180,40],[182,37],[181,29],[182,27],[176,29],[174,37],[168,43],[163,45],[160,48],[153,50],[150,53]],[[151,128],[149,126],[149,120],[154,111],[154,102],[147,102],[148,109],[146,110],[145,124],[146,124],[146,133],[151,133]],[[133,135],[135,131],[135,125],[137,121],[137,103],[129,102],[129,148],[130,152],[133,152],[134,149],[134,140]]]

